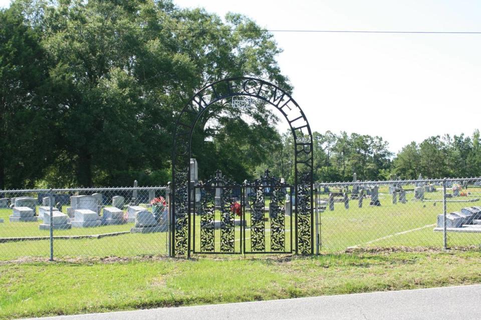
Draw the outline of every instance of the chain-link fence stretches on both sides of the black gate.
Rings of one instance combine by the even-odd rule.
[[[0,260],[168,255],[168,190],[1,190]],[[316,252],[481,247],[481,178],[321,182],[314,199]]]

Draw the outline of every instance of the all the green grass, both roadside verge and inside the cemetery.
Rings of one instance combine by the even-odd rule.
[[[447,232],[444,250],[443,232],[433,230],[442,189],[422,201],[408,191],[406,203],[394,204],[388,188],[379,187],[381,206],[369,206],[367,198],[359,208],[350,199],[348,209],[336,201],[334,210],[320,212],[317,256],[169,258],[167,232],[130,233],[134,223],[126,223],[54,230],[55,261],[49,262],[50,241],[26,239],[48,237],[49,230],[40,230],[40,222],[10,222],[12,209],[0,209],[0,238],[23,238],[0,242],[0,318],[479,283],[481,233]],[[481,188],[463,191],[466,196],[449,198],[447,212],[481,205]],[[151,210],[148,199],[136,204]]]

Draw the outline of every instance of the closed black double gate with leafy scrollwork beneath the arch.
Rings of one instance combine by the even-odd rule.
[[[198,183],[192,192],[193,253],[292,253],[292,190],[269,170],[243,185],[220,171]]]

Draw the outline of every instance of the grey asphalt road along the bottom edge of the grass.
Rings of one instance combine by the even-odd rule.
[[[111,319],[481,319],[481,285],[48,317]]]

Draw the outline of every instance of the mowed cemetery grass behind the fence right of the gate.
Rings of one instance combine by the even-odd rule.
[[[384,190],[387,192],[387,189]],[[456,197],[453,200],[481,198],[479,189],[470,197]],[[477,192],[477,193],[474,193]],[[434,232],[437,215],[443,211],[442,192],[424,193],[426,201],[413,201],[414,193],[406,194],[407,203],[392,203],[392,196],[381,193],[381,206],[369,206],[369,199],[349,201],[349,209],[344,203],[336,202],[334,211],[327,208],[321,216],[321,244],[324,252],[342,250],[349,246],[434,246],[443,244],[442,232]],[[322,195],[321,195],[322,197]],[[451,199],[449,199],[451,200]],[[466,206],[481,206],[476,202],[448,202],[447,212],[459,211]],[[419,230],[416,230],[419,229]],[[399,234],[401,232],[405,232]],[[481,233],[448,233],[449,246],[481,244]]]

